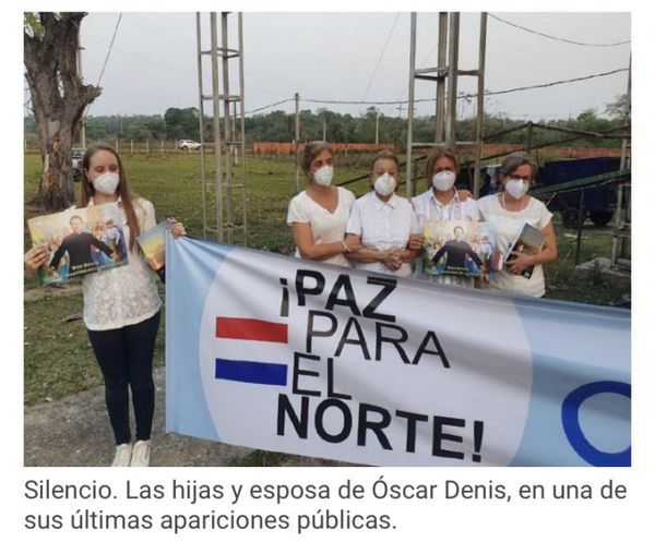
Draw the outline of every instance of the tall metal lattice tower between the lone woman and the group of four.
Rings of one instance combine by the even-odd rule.
[[[246,208],[246,130],[243,103],[243,24],[238,13],[237,47],[228,47],[228,20],[230,13],[221,13],[221,32],[216,13],[210,13],[211,46],[203,49],[202,27],[206,15],[196,13],[198,91],[200,104],[201,182],[203,237],[215,234],[218,242],[247,244],[248,221]],[[205,28],[206,29],[206,28]],[[221,36],[221,45],[218,37]],[[209,57],[210,67],[203,62]],[[219,65],[221,64],[221,65]],[[236,64],[236,65],[235,65]],[[235,85],[230,81],[230,68]],[[209,70],[210,76],[204,72]],[[234,72],[237,77],[234,77]],[[205,80],[211,89],[205,89]],[[236,91],[234,87],[236,86]],[[212,121],[205,127],[205,103],[212,104]],[[206,141],[211,128],[213,155]],[[223,135],[222,135],[223,134]],[[213,156],[214,179],[209,180]]]

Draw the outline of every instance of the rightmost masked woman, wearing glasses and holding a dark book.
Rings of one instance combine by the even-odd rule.
[[[527,194],[537,173],[537,165],[524,152],[510,154],[500,166],[502,191],[478,202],[484,220],[496,225],[497,249],[503,254],[510,243],[528,224],[544,234],[544,249],[538,254],[512,253],[504,269],[497,273],[489,288],[511,296],[540,298],[546,293],[543,265],[557,258],[557,238],[552,227],[552,213],[540,201]],[[532,277],[522,273],[534,266]]]

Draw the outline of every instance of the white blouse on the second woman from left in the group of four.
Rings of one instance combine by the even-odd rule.
[[[346,232],[358,236],[361,244],[368,249],[405,250],[409,236],[416,231],[417,226],[416,215],[408,200],[393,194],[388,202],[383,202],[376,192],[369,192],[355,202]],[[412,275],[412,264],[407,262],[395,272],[382,262],[355,262],[355,267],[400,277]]]

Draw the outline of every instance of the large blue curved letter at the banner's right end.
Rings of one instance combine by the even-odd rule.
[[[602,451],[592,446],[582,433],[580,407],[586,399],[598,394],[619,394],[630,398],[631,388],[624,382],[602,381],[585,384],[571,392],[562,404],[562,426],[567,438],[577,455],[595,467],[630,467],[631,446],[616,454]]]

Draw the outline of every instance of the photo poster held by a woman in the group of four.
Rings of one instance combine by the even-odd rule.
[[[496,227],[472,220],[426,220],[422,269],[428,275],[481,277],[502,263]]]

